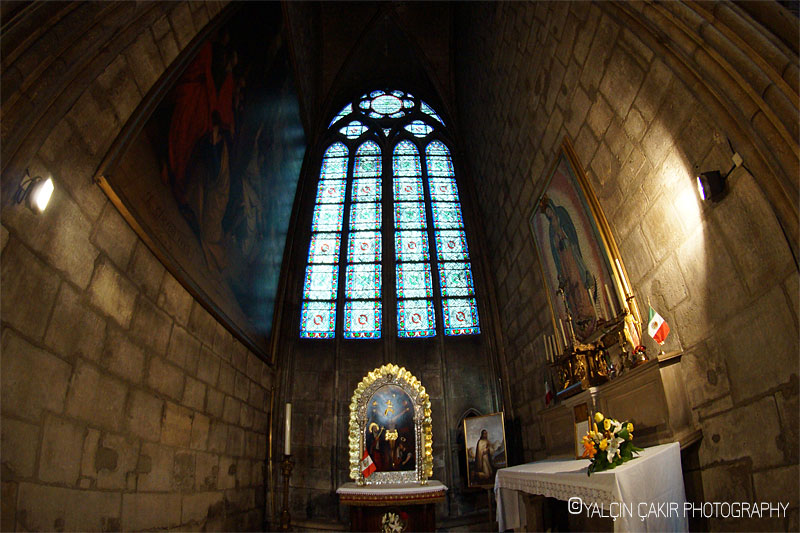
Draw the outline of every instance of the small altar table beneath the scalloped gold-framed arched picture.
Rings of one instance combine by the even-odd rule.
[[[447,487],[440,481],[357,485],[345,483],[336,490],[339,501],[350,506],[351,531],[381,531],[383,517],[393,513],[407,531],[436,531],[436,504],[444,501]]]

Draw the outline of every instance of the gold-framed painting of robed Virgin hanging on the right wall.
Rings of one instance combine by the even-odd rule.
[[[593,195],[583,170],[565,140],[530,223],[554,322],[560,319],[562,324],[556,333],[568,342],[567,312],[575,338],[582,342],[622,309],[589,198]]]

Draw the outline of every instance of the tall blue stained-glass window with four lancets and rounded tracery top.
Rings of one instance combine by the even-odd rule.
[[[338,327],[345,339],[376,339],[387,325],[401,338],[480,333],[444,121],[409,93],[375,90],[329,128],[300,336],[334,338]]]

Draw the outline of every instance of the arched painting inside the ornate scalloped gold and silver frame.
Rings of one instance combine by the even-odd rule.
[[[414,404],[397,385],[385,385],[367,403],[364,447],[376,472],[416,468]]]

